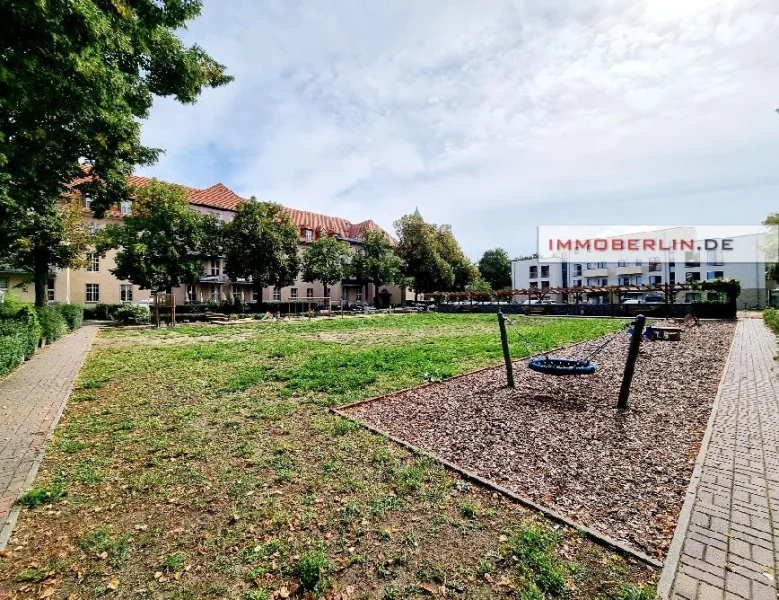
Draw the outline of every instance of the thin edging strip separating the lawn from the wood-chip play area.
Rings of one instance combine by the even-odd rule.
[[[490,367],[491,368],[491,367]],[[484,369],[479,369],[479,371],[483,371]],[[473,371],[471,373],[468,373],[469,375],[473,373],[478,373],[479,371]],[[389,395],[389,394],[388,394]],[[379,396],[377,398],[372,398],[371,400],[378,400],[384,396]],[[364,403],[364,401],[363,401]],[[663,563],[655,558],[652,558],[648,554],[644,554],[643,552],[640,552],[638,550],[634,550],[627,544],[624,544],[623,542],[620,542],[618,540],[615,540],[612,537],[609,537],[600,531],[597,531],[595,529],[592,529],[591,527],[587,527],[586,525],[582,525],[581,523],[577,523],[575,521],[572,521],[568,517],[563,516],[562,514],[550,509],[546,508],[545,506],[541,506],[540,504],[537,504],[530,500],[529,498],[525,498],[524,496],[520,496],[519,494],[512,492],[511,490],[503,487],[502,485],[495,483],[494,481],[491,481],[489,479],[485,479],[484,477],[477,475],[473,471],[469,471],[468,469],[464,469],[463,467],[450,462],[446,460],[445,458],[442,458],[441,456],[438,456],[437,454],[433,452],[429,452],[427,450],[423,450],[422,448],[419,448],[415,446],[414,444],[411,444],[407,442],[406,440],[402,440],[398,437],[395,437],[394,435],[391,435],[390,433],[387,433],[383,429],[380,429],[378,427],[374,427],[373,425],[370,425],[366,423],[365,421],[362,421],[361,419],[356,418],[354,415],[349,414],[348,412],[342,410],[343,408],[347,408],[348,406],[355,406],[360,403],[353,403],[351,405],[346,405],[341,408],[331,408],[330,412],[333,414],[338,415],[339,417],[342,417],[344,419],[348,419],[354,423],[358,423],[365,429],[372,431],[373,433],[376,433],[378,435],[381,435],[389,440],[392,440],[396,444],[399,444],[409,450],[411,450],[414,454],[418,454],[421,456],[426,456],[428,458],[431,458],[439,463],[441,463],[444,467],[449,469],[450,471],[454,471],[455,473],[459,473],[466,479],[473,481],[475,483],[478,483],[481,486],[486,487],[487,489],[493,490],[495,492],[498,492],[502,494],[503,496],[506,496],[507,498],[510,498],[514,502],[517,502],[519,504],[522,504],[523,506],[526,506],[527,508],[530,508],[536,512],[541,513],[545,517],[552,519],[553,521],[557,521],[558,523],[561,523],[563,525],[566,525],[567,527],[570,527],[572,529],[575,529],[577,531],[580,531],[586,535],[587,538],[593,540],[594,542],[600,544],[601,546],[604,546],[606,548],[609,548],[611,550],[616,550],[620,554],[627,556],[629,558],[634,558],[636,560],[639,560],[647,565],[650,565],[655,568],[662,568]]]

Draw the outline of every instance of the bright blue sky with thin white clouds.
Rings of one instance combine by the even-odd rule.
[[[776,0],[204,0],[235,81],[157,99],[140,173],[393,222],[478,260],[539,225],[779,212]]]

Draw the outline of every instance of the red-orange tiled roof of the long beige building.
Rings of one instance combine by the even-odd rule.
[[[87,174],[84,177],[75,180],[71,184],[71,187],[76,187],[88,180],[89,175]],[[136,187],[143,187],[152,181],[151,178],[143,177],[141,175],[128,175],[127,180],[131,185]],[[170,185],[174,185],[180,189],[183,189],[187,193],[187,200],[194,206],[204,206],[207,208],[235,212],[238,210],[238,205],[241,202],[249,201],[247,198],[239,196],[222,183],[214,184],[211,187],[207,187],[205,189],[193,188],[186,185],[181,185],[179,183],[173,183]],[[287,214],[289,214],[292,222],[300,231],[301,241],[306,241],[304,233],[305,229],[311,229],[317,233],[326,231],[331,235],[350,240],[361,240],[363,230],[367,229],[368,231],[381,231],[387,236],[387,238],[390,239],[390,241],[393,243],[395,242],[391,235],[389,235],[386,231],[384,231],[384,229],[379,227],[379,225],[370,219],[360,223],[352,223],[341,217],[331,217],[329,215],[309,212],[306,210],[298,210],[296,208],[289,208],[286,206],[283,208]],[[111,209],[107,212],[107,215],[112,217],[119,217],[121,216],[121,213],[117,209]]]

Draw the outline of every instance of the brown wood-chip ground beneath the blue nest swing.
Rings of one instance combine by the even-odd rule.
[[[616,410],[628,335],[589,376],[553,377],[514,363],[349,409],[574,521],[662,558],[711,412],[735,324],[704,322],[682,339],[644,341],[630,408]],[[601,340],[556,356],[582,358]]]

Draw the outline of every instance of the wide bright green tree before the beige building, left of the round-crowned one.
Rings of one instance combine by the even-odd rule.
[[[132,215],[100,232],[97,252],[117,249],[111,273],[142,289],[171,293],[195,285],[203,258],[214,252],[219,222],[192,210],[184,190],[152,180],[138,188]]]

